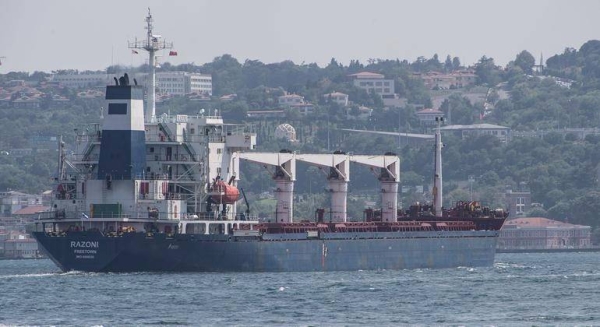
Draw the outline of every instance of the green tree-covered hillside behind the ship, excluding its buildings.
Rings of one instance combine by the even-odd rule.
[[[398,144],[396,138],[384,135],[351,134],[341,129],[368,129],[423,133],[430,132],[415,115],[418,108],[433,105],[432,95],[416,73],[451,72],[464,69],[459,58],[447,56],[440,60],[418,58],[414,62],[399,59],[373,59],[367,63],[352,61],[343,65],[335,59],[325,67],[316,64],[295,64],[291,61],[265,64],[258,60],[239,62],[222,55],[204,65],[165,63],[162,71],[187,71],[211,74],[211,101],[190,101],[174,97],[159,104],[159,112],[196,114],[200,108],[218,109],[227,122],[245,124],[258,134],[260,151],[291,149],[300,152],[326,153],[342,150],[353,153],[382,154],[395,152],[401,157],[401,186],[414,189],[431,183],[433,170],[431,145]],[[591,40],[579,49],[567,48],[564,53],[548,58],[544,69],[536,65],[534,56],[522,51],[505,67],[491,57],[482,57],[470,67],[477,76],[477,85],[445,90],[448,95],[440,110],[452,123],[490,123],[511,128],[514,132],[536,132],[537,136],[514,136],[500,142],[493,136],[461,139],[444,135],[445,204],[469,197],[492,206],[504,206],[507,189],[531,191],[540,205],[527,215],[543,216],[571,223],[600,226],[600,135],[594,133],[579,138],[565,129],[598,128],[600,125],[600,41]],[[107,68],[109,73],[145,71],[147,67]],[[406,99],[401,107],[385,106],[376,94],[352,85],[348,75],[368,71],[385,75],[395,82],[395,93]],[[43,72],[11,72],[0,75],[0,85],[23,79],[43,82],[49,74]],[[474,88],[489,90],[488,103],[470,100],[466,93]],[[327,101],[323,94],[343,92],[349,95],[351,106],[346,109]],[[56,94],[71,101],[60,108],[42,105],[38,109],[0,108],[0,150],[26,148],[32,135],[63,135],[67,143],[74,141],[74,131],[85,123],[98,122],[102,99],[82,100],[75,91],[55,87]],[[303,96],[315,105],[311,115],[287,110],[285,117],[250,119],[249,110],[280,109],[277,97],[284,92]],[[506,93],[508,97],[501,97]],[[222,95],[235,94],[224,101]],[[491,105],[492,109],[487,106]],[[367,119],[359,118],[360,106],[372,108]],[[278,124],[289,123],[296,128],[299,142],[290,143],[273,138]],[[600,131],[599,131],[600,133]],[[399,147],[400,146],[400,147]],[[3,152],[4,153],[4,152]],[[52,153],[52,152],[51,152]],[[15,158],[0,156],[0,189],[40,192],[49,189],[56,169],[55,155],[32,155]],[[268,176],[261,167],[244,168],[245,189],[259,194],[269,190]],[[318,171],[306,167],[310,178],[299,180],[296,190],[306,195],[310,205],[325,203],[321,193],[325,185]],[[361,211],[361,197],[375,198],[366,190],[377,188],[370,172],[359,168],[351,182],[350,210]],[[472,189],[469,188],[472,178]],[[265,182],[266,180],[266,182]],[[403,193],[405,205],[422,200],[414,192]],[[308,204],[301,203],[298,210]],[[353,207],[354,206],[354,207]],[[257,208],[267,210],[264,208]],[[349,210],[349,211],[350,211]],[[600,230],[600,229],[596,229]]]

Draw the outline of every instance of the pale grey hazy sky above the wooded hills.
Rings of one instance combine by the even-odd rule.
[[[154,31],[174,43],[172,64],[292,60],[326,65],[331,58],[486,55],[505,65],[522,50],[536,60],[600,38],[600,1],[578,0],[0,0],[0,73],[103,70],[140,65],[127,41]]]

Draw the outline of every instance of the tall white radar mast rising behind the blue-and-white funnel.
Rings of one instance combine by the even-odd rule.
[[[148,98],[147,105],[144,113],[146,122],[153,122],[156,120],[156,52],[163,49],[172,49],[173,43],[167,43],[165,40],[159,41],[162,36],[152,33],[152,14],[150,8],[148,8],[148,16],[146,16],[146,29],[148,33],[146,40],[138,41],[137,38],[134,42],[129,42],[130,49],[139,49],[148,51],[148,65],[150,66],[150,76],[148,85]]]

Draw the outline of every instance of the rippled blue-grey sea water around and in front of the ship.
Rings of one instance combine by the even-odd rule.
[[[62,273],[0,261],[0,325],[593,326],[600,252],[493,267],[327,273]]]

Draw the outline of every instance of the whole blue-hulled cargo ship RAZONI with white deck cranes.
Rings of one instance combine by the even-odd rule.
[[[216,110],[157,116],[155,58],[169,44],[152,33],[150,11],[146,22],[145,40],[130,46],[148,52],[150,86],[127,74],[115,77],[106,87],[101,123],[78,132],[74,150],[67,151],[60,138],[52,209],[40,215],[32,234],[61,270],[292,272],[493,264],[507,212],[473,201],[442,207],[439,123],[434,201],[401,210],[400,160],[392,153],[255,152],[256,135],[225,124]],[[314,217],[293,216],[298,161],[326,172],[330,208],[315,209]],[[242,162],[260,164],[272,177],[277,204],[269,219],[249,210],[239,188]],[[346,211],[350,163],[370,167],[381,186],[381,207],[365,210],[361,221],[349,221]],[[247,209],[238,212],[242,201]]]

